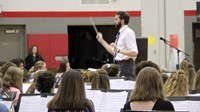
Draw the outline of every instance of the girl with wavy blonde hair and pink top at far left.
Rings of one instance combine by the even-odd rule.
[[[16,92],[16,97],[13,100],[17,103],[19,95],[22,93],[23,72],[20,68],[11,66],[7,69],[3,77],[3,87],[7,92]]]

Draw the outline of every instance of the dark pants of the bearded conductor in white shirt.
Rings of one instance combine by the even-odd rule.
[[[119,65],[119,76],[125,77],[134,77],[134,61],[132,58],[128,60],[116,61],[116,64]]]

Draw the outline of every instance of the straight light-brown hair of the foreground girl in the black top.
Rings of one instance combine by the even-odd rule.
[[[137,78],[131,101],[155,101],[164,99],[163,81],[158,70],[152,67],[143,68]]]

